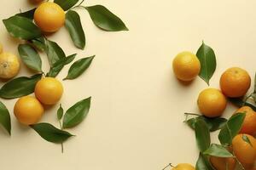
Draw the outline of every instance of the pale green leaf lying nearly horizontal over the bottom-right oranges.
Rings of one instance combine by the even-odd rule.
[[[205,150],[203,154],[217,157],[234,157],[229,150],[220,144],[211,144],[211,146]]]

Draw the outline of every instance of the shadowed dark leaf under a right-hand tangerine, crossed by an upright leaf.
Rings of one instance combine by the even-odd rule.
[[[189,127],[195,129],[195,122],[197,121],[197,119],[204,120],[207,123],[207,127],[209,128],[210,132],[221,129],[222,127],[224,127],[225,122],[227,122],[227,120],[222,117],[209,118],[206,116],[197,116],[189,119],[188,121],[186,121],[186,123],[189,125]]]

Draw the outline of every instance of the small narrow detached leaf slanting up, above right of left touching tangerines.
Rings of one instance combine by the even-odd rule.
[[[64,80],[72,80],[79,77],[84,71],[88,69],[94,57],[95,55],[84,59],[79,59],[76,62],[74,62],[73,65],[70,66],[67,77],[64,78]]]

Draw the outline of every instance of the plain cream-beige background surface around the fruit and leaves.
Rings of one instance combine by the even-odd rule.
[[[196,78],[189,86],[177,82],[172,58],[180,51],[196,52],[204,40],[217,55],[217,71],[211,87],[218,88],[221,72],[237,65],[253,77],[256,54],[254,0],[94,0],[118,14],[130,31],[98,30],[86,11],[78,9],[87,37],[84,51],[73,47],[63,28],[50,39],[66,54],[96,54],[90,69],[79,79],[63,82],[64,109],[92,96],[87,119],[71,130],[77,136],[61,146],[41,139],[20,126],[12,114],[12,137],[0,132],[0,169],[19,170],[160,170],[167,163],[195,163],[194,133],[183,124],[183,112],[196,112],[197,94],[207,84]],[[3,5],[4,4],[4,5]],[[2,0],[1,20],[26,10],[26,0]],[[3,23],[0,41],[17,54],[17,42]],[[44,71],[48,71],[46,56]],[[78,59],[77,58],[77,59]],[[65,77],[67,68],[59,78]],[[24,67],[20,76],[32,75]],[[3,83],[0,82],[2,85]],[[1,99],[2,100],[2,99]],[[3,100],[12,113],[14,100]],[[57,106],[42,122],[58,126]],[[225,116],[234,107],[228,106]]]

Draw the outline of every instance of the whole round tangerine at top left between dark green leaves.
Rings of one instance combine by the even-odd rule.
[[[42,31],[55,32],[64,25],[65,13],[57,3],[41,3],[34,13],[34,20]]]

